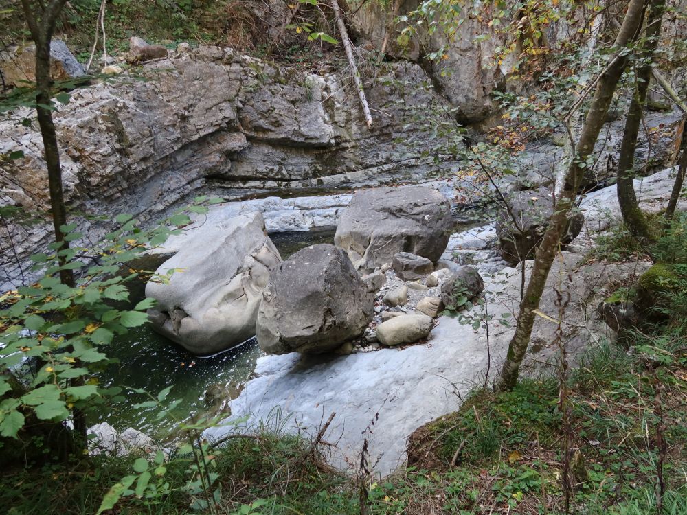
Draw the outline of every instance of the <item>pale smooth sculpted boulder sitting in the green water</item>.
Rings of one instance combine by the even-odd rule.
[[[210,230],[208,230],[210,229]],[[177,269],[168,282],[148,282],[153,328],[196,354],[214,354],[255,334],[271,268],[281,258],[260,213],[196,231],[157,273]]]

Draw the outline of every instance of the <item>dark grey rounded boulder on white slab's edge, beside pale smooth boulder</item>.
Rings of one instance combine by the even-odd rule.
[[[293,254],[262,292],[256,335],[271,354],[318,354],[360,336],[374,314],[374,293],[348,256],[331,244]]]

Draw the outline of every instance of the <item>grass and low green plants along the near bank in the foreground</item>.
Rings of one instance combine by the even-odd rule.
[[[602,343],[570,378],[573,513],[655,512],[656,371],[664,385],[664,513],[687,514],[684,339],[673,331],[638,336],[636,344],[627,352]],[[561,431],[553,378],[523,380],[504,393],[473,391],[460,411],[412,435],[407,468],[368,484],[369,513],[562,514]],[[327,466],[309,439],[263,428],[218,450],[221,513],[361,513],[359,481]],[[173,458],[165,479],[180,487],[188,464]],[[15,470],[3,478],[0,505],[11,506],[12,515],[95,513],[111,485],[131,472],[133,459],[93,457],[67,470],[57,464]],[[106,513],[192,512],[181,488],[153,499],[131,496],[116,509]]]

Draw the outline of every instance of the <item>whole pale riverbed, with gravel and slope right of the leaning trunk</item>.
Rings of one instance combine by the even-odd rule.
[[[652,209],[657,199],[669,192],[672,171],[664,170],[636,182],[642,192],[642,207]],[[558,317],[554,307],[556,290],[571,295],[563,321],[563,338],[576,360],[589,345],[613,338],[613,332],[597,312],[600,302],[618,283],[633,280],[649,266],[644,262],[585,261],[594,238],[613,220],[609,215],[617,214],[614,198],[615,188],[611,186],[583,201],[587,223],[569,251],[561,253],[554,263],[541,302],[543,314],[550,318],[538,317],[535,323],[526,364],[529,371],[550,366],[556,354],[556,324],[551,321]],[[600,225],[599,220],[604,223]],[[363,338],[346,351],[350,354],[343,356],[291,353],[259,358],[256,377],[247,382],[238,398],[229,402],[232,417],[227,422],[248,417],[239,431],[243,426],[249,430],[263,420],[286,431],[315,435],[329,415],[335,413],[324,436],[333,445],[323,447],[335,466],[348,468],[357,460],[365,428],[370,426],[369,448],[375,472],[385,475],[395,470],[403,464],[406,439],[412,431],[458,409],[472,387],[483,384],[487,374],[493,378],[504,358],[513,334],[510,322],[517,313],[522,275],[519,266],[506,266],[495,259],[495,240],[491,225],[460,231],[451,236],[442,256],[450,259],[453,266],[469,260],[484,275],[484,304],[464,312],[466,319],[438,317],[431,335],[414,345],[390,348]],[[528,262],[525,279],[530,270]],[[385,282],[376,296],[377,307],[383,307],[377,310],[371,328],[381,321],[383,313],[413,312],[420,297],[438,293],[436,286],[427,290],[409,288],[409,301],[404,306],[389,308],[383,302],[385,293],[404,282],[392,270],[384,275]],[[426,287],[427,279],[417,284]],[[473,325],[475,321],[479,323]],[[211,428],[206,435],[218,439],[228,431],[237,428]]]

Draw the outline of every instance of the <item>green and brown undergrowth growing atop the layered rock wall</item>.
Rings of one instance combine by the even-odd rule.
[[[285,5],[256,0],[111,0],[106,2],[104,16],[106,49],[109,55],[126,52],[129,38],[139,36],[169,48],[181,41],[220,45],[299,65],[316,65],[327,54],[341,53],[340,45],[312,41],[295,26],[282,29],[280,41],[274,41],[273,34],[275,29],[280,30],[284,8]],[[67,41],[82,62],[89,59],[99,10],[100,0],[72,0],[58,19],[56,37]],[[11,43],[30,43],[22,13],[19,0],[8,0],[6,8],[0,7],[0,25],[7,28],[0,34],[0,49]],[[311,19],[317,23],[311,23]],[[333,24],[324,26],[322,15],[309,3],[300,4],[292,25],[299,24],[335,33]],[[102,43],[98,43],[96,50],[96,56],[100,56]]]

